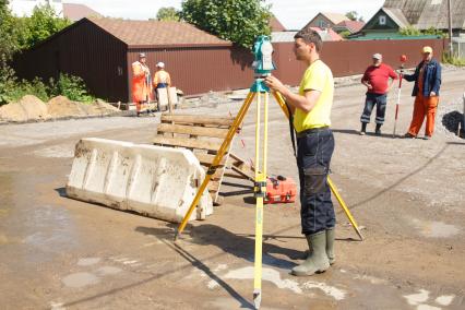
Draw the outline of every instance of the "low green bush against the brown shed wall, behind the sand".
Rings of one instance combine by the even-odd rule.
[[[87,92],[84,81],[80,76],[60,74],[58,81],[50,79],[50,97],[65,96],[70,100],[92,103],[95,97],[91,96]]]

